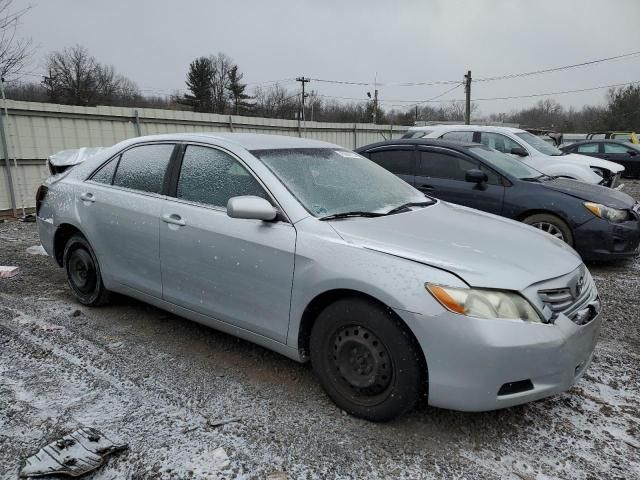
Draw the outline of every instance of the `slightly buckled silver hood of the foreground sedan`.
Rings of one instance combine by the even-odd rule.
[[[522,291],[582,263],[547,233],[446,202],[330,224],[346,242],[449,271],[473,287]]]

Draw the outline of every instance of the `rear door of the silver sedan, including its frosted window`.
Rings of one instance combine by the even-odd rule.
[[[175,144],[133,146],[81,186],[78,212],[107,287],[162,297],[159,218]]]

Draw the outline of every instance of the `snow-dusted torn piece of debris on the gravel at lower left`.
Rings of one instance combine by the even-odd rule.
[[[63,474],[79,477],[102,465],[107,455],[127,447],[126,443],[109,440],[95,428],[79,428],[27,458],[20,476]]]

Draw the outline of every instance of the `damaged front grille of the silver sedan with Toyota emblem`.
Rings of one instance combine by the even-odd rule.
[[[574,323],[584,325],[595,318],[600,310],[600,300],[593,278],[587,270],[573,285],[538,291],[540,300],[553,312],[552,319],[560,314]]]

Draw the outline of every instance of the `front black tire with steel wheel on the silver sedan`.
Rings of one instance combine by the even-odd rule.
[[[352,297],[327,306],[311,331],[313,370],[346,412],[376,422],[411,410],[426,371],[407,327],[389,309]]]

